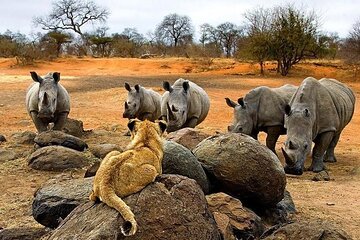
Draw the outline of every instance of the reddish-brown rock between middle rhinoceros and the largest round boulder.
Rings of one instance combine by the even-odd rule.
[[[184,147],[192,150],[205,138],[210,137],[209,134],[200,132],[194,128],[182,128],[178,131],[171,132],[166,136],[166,139],[177,142]]]

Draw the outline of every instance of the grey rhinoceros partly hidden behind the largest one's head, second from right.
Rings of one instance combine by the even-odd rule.
[[[280,135],[286,134],[285,106],[295,91],[296,87],[290,84],[279,88],[261,86],[252,89],[244,98],[239,98],[237,103],[225,98],[227,105],[234,108],[229,132],[244,133],[255,139],[260,131],[266,132],[266,146],[276,154],[276,141]]]

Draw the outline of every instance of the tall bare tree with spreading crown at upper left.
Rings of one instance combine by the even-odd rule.
[[[45,17],[35,17],[33,22],[44,30],[71,30],[83,36],[82,27],[88,23],[105,22],[109,11],[91,0],[57,0]]]

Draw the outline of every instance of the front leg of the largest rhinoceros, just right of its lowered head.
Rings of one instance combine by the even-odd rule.
[[[309,168],[310,171],[321,172],[325,169],[324,155],[333,137],[334,132],[324,132],[315,138],[315,146],[313,148],[312,154],[312,163]]]

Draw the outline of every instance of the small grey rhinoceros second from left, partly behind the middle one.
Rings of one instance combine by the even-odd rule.
[[[138,84],[131,88],[125,83],[128,91],[127,100],[124,103],[123,117],[139,120],[158,120],[161,116],[161,95],[152,89],[146,89]]]

